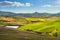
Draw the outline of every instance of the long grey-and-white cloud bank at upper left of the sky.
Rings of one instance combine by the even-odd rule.
[[[31,6],[30,3],[20,3],[20,2],[11,2],[11,1],[3,1],[0,2],[0,7],[1,6]]]

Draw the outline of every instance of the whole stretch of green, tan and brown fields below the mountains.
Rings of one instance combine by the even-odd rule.
[[[23,26],[18,29],[0,27],[1,40],[60,40],[60,17],[3,19],[0,23],[7,24],[4,21],[8,20],[10,24]]]

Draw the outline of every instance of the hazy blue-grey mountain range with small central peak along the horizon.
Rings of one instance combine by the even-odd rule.
[[[12,16],[12,17],[52,17],[52,16],[60,16],[60,13],[57,14],[49,14],[49,13],[12,13],[12,12],[4,12],[0,11],[0,16]]]

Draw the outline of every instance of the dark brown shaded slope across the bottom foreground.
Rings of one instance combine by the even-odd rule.
[[[59,40],[59,38],[50,37],[48,35],[42,36],[29,31],[0,27],[0,40]]]

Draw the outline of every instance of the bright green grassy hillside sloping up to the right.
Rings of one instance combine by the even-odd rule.
[[[60,36],[60,19],[50,18],[47,20],[44,22],[28,24],[28,25],[22,26],[19,29],[34,31],[34,32],[41,32],[42,34],[48,34],[50,36],[55,36],[55,34]]]

